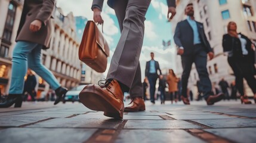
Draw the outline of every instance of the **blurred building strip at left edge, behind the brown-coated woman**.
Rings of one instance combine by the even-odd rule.
[[[0,89],[8,91],[11,76],[11,57],[20,24],[23,0],[0,1]]]

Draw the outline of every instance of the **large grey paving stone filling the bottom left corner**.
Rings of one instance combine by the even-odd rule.
[[[84,142],[97,129],[9,128],[0,130],[0,141],[11,143]]]

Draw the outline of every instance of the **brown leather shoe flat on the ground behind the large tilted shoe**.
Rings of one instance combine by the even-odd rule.
[[[135,97],[129,103],[128,107],[125,107],[125,112],[132,112],[132,111],[144,111],[145,110],[145,103],[141,97]]]

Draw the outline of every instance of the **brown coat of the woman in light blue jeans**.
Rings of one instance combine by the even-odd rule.
[[[54,4],[55,0],[25,0],[16,41],[39,43],[43,48],[49,48]],[[38,32],[29,30],[30,23],[34,20],[42,21],[42,27]]]

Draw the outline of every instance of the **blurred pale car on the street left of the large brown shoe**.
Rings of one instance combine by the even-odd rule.
[[[65,103],[66,101],[71,101],[71,102],[79,101],[78,95],[82,91],[82,89],[84,89],[85,86],[87,85],[79,85],[67,91],[67,94],[63,100],[63,103]]]

